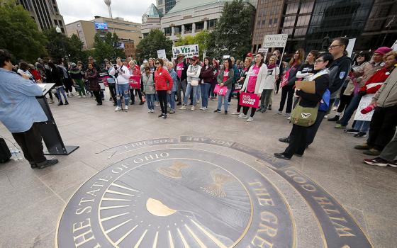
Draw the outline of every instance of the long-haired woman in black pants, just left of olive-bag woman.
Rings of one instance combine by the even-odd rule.
[[[295,85],[296,81],[296,73],[298,72],[299,67],[301,67],[301,64],[303,62],[303,57],[305,57],[305,52],[303,49],[299,48],[296,50],[295,54],[293,54],[293,57],[289,61],[289,69],[286,70],[286,77],[288,75],[288,78],[283,79],[285,80],[285,84],[283,85],[281,89],[281,101],[280,101],[280,108],[278,114],[281,115],[284,109],[284,104],[286,101],[286,117],[289,117],[291,115],[292,111],[292,100],[293,100],[293,86]]]

